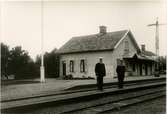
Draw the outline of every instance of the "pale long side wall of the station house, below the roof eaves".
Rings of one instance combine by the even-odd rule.
[[[91,76],[95,77],[94,68],[95,64],[99,61],[99,57],[103,57],[103,62],[106,66],[106,75],[109,77],[112,75],[111,67],[112,61],[110,57],[112,56],[112,51],[105,52],[90,52],[90,53],[78,53],[78,54],[67,54],[62,55],[60,59],[60,75],[62,75],[62,61],[66,61],[67,70],[66,74],[72,74],[74,77],[82,77],[82,76]],[[85,71],[84,73],[80,72],[80,60],[85,60]],[[74,60],[74,72],[70,72],[70,60]]]

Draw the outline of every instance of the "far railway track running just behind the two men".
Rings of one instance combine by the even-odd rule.
[[[147,83],[155,83],[155,82],[162,82],[165,81],[166,78],[157,78],[157,79],[147,79],[147,80],[133,80],[133,81],[125,81],[124,86],[133,86],[133,85],[142,85],[142,84],[147,84]],[[107,88],[115,88],[118,86],[117,82],[113,83],[105,83],[104,84],[104,89]],[[63,94],[72,94],[72,93],[77,93],[77,92],[85,92],[85,91],[92,91],[96,90],[97,87],[95,84],[89,84],[89,85],[79,85],[75,86],[72,88],[68,88],[64,91],[59,91],[59,92],[48,92],[44,94],[39,94],[39,95],[34,95],[34,96],[29,96],[29,97],[23,97],[23,98],[14,98],[14,99],[6,99],[6,100],[1,100],[1,103],[4,102],[11,102],[11,101],[18,101],[18,100],[25,100],[25,99],[32,99],[32,98],[39,98],[39,97],[47,97],[47,96],[55,96],[55,95],[63,95]]]

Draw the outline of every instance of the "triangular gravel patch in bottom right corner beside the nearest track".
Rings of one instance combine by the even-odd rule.
[[[109,112],[108,114],[166,114],[166,97]]]

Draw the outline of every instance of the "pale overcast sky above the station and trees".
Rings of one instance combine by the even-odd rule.
[[[96,34],[99,26],[107,31],[130,29],[138,45],[155,52],[155,27],[167,23],[167,4],[163,0],[1,0],[1,42],[9,47],[22,46],[35,59],[41,53],[60,48],[74,36]],[[43,22],[43,30],[41,23]],[[42,32],[43,31],[43,32]],[[159,26],[160,55],[167,53],[167,25]]]

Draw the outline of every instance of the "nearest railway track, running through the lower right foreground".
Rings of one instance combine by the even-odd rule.
[[[158,89],[158,90],[157,90]],[[98,114],[111,113],[113,110],[120,110],[124,107],[146,102],[152,99],[165,96],[165,88],[146,89],[135,92],[122,93],[98,99],[96,101],[85,102],[75,109],[64,110],[60,113],[64,114]],[[93,105],[92,105],[93,104]],[[81,104],[75,104],[81,105]],[[74,106],[71,106],[74,107]]]

